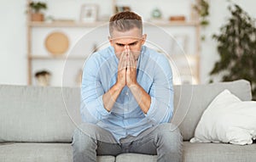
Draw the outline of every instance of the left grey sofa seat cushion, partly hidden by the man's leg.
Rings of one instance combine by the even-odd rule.
[[[114,162],[113,156],[98,156],[98,162]],[[0,161],[72,162],[70,143],[15,142],[0,144]]]

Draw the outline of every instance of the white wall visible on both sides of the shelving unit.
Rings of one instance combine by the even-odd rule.
[[[165,1],[161,0],[160,2],[165,3]],[[67,1],[63,2],[67,3]],[[212,40],[212,34],[218,33],[219,27],[230,15],[227,10],[228,3],[225,0],[209,0],[209,2],[211,5],[210,25],[202,31],[207,36],[207,40],[201,45],[201,83],[208,82],[208,73],[218,59],[216,42]],[[247,10],[253,18],[256,18],[255,0],[236,0],[236,3]],[[26,85],[25,10],[26,0],[0,0],[0,84]]]

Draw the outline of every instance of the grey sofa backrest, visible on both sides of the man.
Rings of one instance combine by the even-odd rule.
[[[241,100],[251,100],[248,81],[174,86],[172,122],[184,140],[212,99],[229,89]],[[71,142],[81,123],[79,87],[0,86],[0,142]]]

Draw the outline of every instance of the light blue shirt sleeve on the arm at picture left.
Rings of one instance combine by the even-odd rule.
[[[93,56],[84,65],[80,106],[84,122],[97,123],[110,114],[103,105],[102,96],[105,92],[98,76],[99,67],[100,64]]]

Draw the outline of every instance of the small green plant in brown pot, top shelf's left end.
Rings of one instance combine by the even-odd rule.
[[[31,2],[29,7],[32,9],[31,20],[32,21],[44,21],[44,14],[41,12],[47,9],[46,3],[41,2]]]

